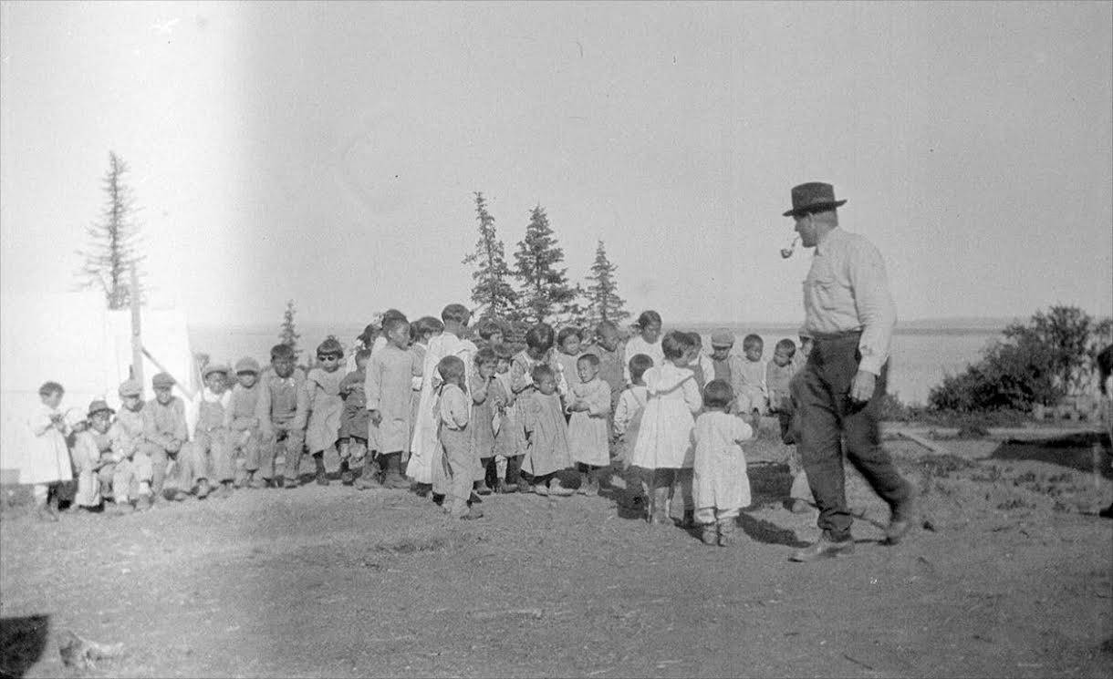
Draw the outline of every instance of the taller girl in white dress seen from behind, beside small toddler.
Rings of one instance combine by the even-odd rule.
[[[688,369],[690,340],[672,331],[661,340],[664,362],[644,373],[649,399],[634,443],[630,463],[646,470],[649,488],[649,521],[664,523],[673,487],[679,482],[684,502],[684,518],[692,511],[687,470],[692,468],[695,450],[691,443],[696,421],[692,415],[702,407],[696,377]]]

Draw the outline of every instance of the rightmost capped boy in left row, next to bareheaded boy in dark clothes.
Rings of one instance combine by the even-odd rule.
[[[239,488],[266,488],[273,483],[275,476],[274,458],[263,455],[263,433],[256,412],[260,393],[259,362],[249,357],[236,361],[236,385],[224,411],[224,426],[230,437],[229,452],[237,467],[243,459],[244,476],[237,472],[235,480],[235,486]]]

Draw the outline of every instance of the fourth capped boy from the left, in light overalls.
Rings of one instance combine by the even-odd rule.
[[[190,429],[190,456],[196,462],[189,479],[190,487],[197,487],[197,499],[204,500],[211,485],[219,483],[218,497],[232,495],[235,469],[228,441],[228,428],[224,425],[224,413],[232,402],[227,390],[228,367],[208,365],[201,371],[205,387],[197,395],[194,417],[187,420]]]

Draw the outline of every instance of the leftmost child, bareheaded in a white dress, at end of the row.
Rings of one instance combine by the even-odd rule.
[[[61,481],[73,478],[66,437],[70,433],[65,415],[58,409],[66,390],[58,382],[39,387],[39,405],[27,419],[30,441],[27,443],[26,462],[20,466],[20,483],[30,483],[35,493],[36,511],[40,520],[57,521],[58,513],[50,506],[50,490]]]

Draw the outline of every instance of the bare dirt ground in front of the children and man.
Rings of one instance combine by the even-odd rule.
[[[1113,497],[1091,441],[889,442],[934,530],[790,563],[815,512],[750,451],[736,545],[600,496],[492,496],[451,522],[404,491],[238,491],[125,517],[0,520],[0,675],[28,677],[1113,676]],[[1101,460],[1109,468],[1107,456]],[[91,670],[63,630],[122,642]]]

